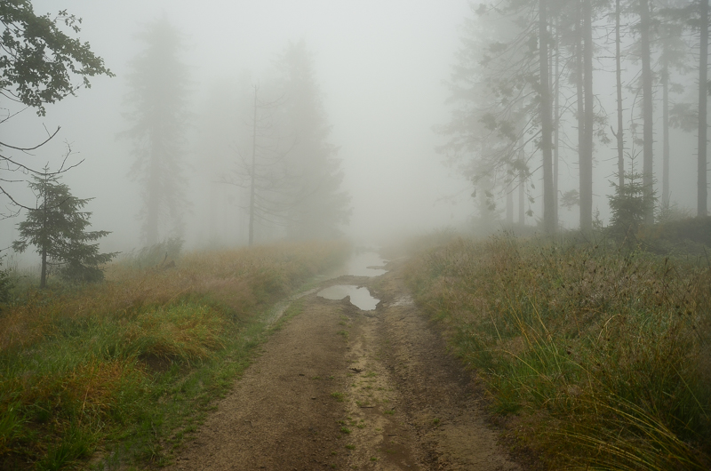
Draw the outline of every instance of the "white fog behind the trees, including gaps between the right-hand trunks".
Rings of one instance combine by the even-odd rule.
[[[102,250],[130,251],[144,243],[140,182],[129,178],[135,156],[131,142],[117,136],[129,127],[124,117],[130,111],[125,102],[129,64],[144,48],[136,35],[161,18],[184,35],[180,59],[188,66],[190,125],[183,189],[190,204],[183,207],[182,236],[189,247],[246,243],[248,214],[239,207],[242,194],[220,180],[230,178],[240,156],[251,152],[245,139],[249,118],[244,109],[231,115],[228,104],[248,97],[254,85],[267,90],[279,57],[289,44],[301,41],[312,54],[324,116],[331,125],[326,140],[338,148],[341,189],[351,196],[352,214],[348,224],[340,227],[342,232],[359,243],[382,243],[394,235],[443,227],[470,230],[475,224],[478,210],[470,196],[472,183],[457,165],[443,164],[435,148],[445,138],[433,131],[451,116],[446,104],[450,91],[443,81],[450,77],[456,60],[459,27],[472,16],[465,0],[209,0],[199,6],[175,0],[60,4],[44,0],[33,4],[36,13],[66,8],[81,17],[82,31],[76,36],[88,41],[116,76],[93,77],[91,89],[82,88],[76,97],[48,105],[46,116],[38,117],[32,109],[21,112],[0,128],[2,140],[30,146],[44,139],[45,129],[61,127],[57,138],[23,158],[37,168],[45,163],[56,168],[67,144],[71,146],[68,164],[83,162],[62,179],[75,196],[95,198],[87,208],[93,212],[92,228],[112,233],[102,241]],[[601,35],[596,36],[598,41]],[[636,70],[629,68],[626,74],[635,76]],[[605,76],[595,83],[601,106],[610,114],[613,82],[607,82],[611,80]],[[689,134],[677,139],[689,143],[684,152],[690,157],[675,164],[672,198],[691,207],[695,147]],[[595,155],[594,208],[603,219],[608,217],[605,195],[610,191],[608,180],[614,180],[614,156],[613,144]],[[576,160],[571,153],[562,158],[560,188],[576,188]],[[527,218],[530,224],[541,217],[539,180],[534,172],[531,181],[538,189],[530,189],[534,199],[527,204],[533,212]],[[26,204],[33,202],[24,184],[11,188]],[[504,196],[497,198],[501,210]],[[217,200],[219,209],[215,209]],[[21,219],[20,214],[0,221],[0,248],[12,243]],[[560,210],[563,227],[574,228],[577,219],[577,209]],[[272,238],[278,238],[281,233],[274,234]],[[160,236],[169,235],[163,230]],[[257,242],[268,239],[263,231]]]

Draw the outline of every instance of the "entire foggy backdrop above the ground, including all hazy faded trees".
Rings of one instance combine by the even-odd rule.
[[[78,164],[61,179],[104,251],[588,229],[615,195],[647,223],[707,214],[704,2],[60,6],[110,74],[62,100],[4,84],[2,150]],[[36,206],[12,162],[4,188]]]

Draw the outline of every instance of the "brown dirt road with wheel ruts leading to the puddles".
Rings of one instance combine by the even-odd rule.
[[[485,422],[471,374],[419,314],[397,263],[362,311],[312,292],[172,469],[521,469]]]

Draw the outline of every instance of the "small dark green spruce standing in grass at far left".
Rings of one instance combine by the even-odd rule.
[[[40,288],[47,285],[49,267],[59,269],[60,275],[74,282],[98,282],[104,278],[101,265],[116,253],[100,253],[100,238],[107,231],[87,232],[91,212],[81,211],[92,198],[72,196],[69,187],[59,177],[44,169],[44,174],[33,175],[29,183],[36,197],[36,209],[28,211],[27,220],[18,224],[20,238],[12,243],[14,251],[36,247],[42,257]]]

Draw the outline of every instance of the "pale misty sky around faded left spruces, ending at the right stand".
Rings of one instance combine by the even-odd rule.
[[[468,12],[464,0],[33,4],[37,13],[67,8],[82,17],[79,37],[92,44],[116,77],[94,78],[91,90],[49,106],[44,118],[28,110],[5,132],[21,136],[25,144],[43,136],[43,126],[62,127],[60,140],[34,158],[56,164],[67,140],[75,160],[85,159],[64,181],[75,196],[96,198],[92,224],[113,231],[102,244],[108,250],[127,250],[140,241],[138,186],[126,176],[133,157],[116,134],[126,128],[123,75],[141,48],[134,34],[142,23],[162,15],[186,34],[185,62],[196,106],[209,84],[235,78],[244,69],[258,83],[289,41],[305,39],[314,52],[316,80],[333,126],[330,141],[340,147],[345,185],[353,196],[349,235],[377,241],[393,232],[461,224],[471,213],[467,182],[443,167],[434,150],[439,138],[432,132],[447,117],[442,81],[457,48],[458,25]],[[459,204],[452,204],[451,196]],[[16,236],[7,226],[4,246]],[[188,227],[188,242],[190,233]]]

